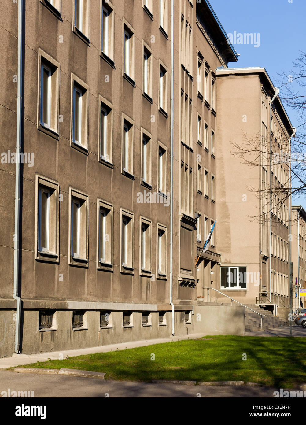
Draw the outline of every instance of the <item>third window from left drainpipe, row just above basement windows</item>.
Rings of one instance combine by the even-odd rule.
[[[113,270],[113,206],[98,200],[97,268]]]

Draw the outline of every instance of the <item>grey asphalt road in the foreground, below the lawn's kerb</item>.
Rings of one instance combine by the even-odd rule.
[[[34,397],[273,397],[272,388],[202,386],[0,371],[2,391],[34,391]]]

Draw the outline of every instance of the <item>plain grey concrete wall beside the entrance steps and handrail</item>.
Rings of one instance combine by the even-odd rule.
[[[244,335],[243,306],[195,306],[194,331],[208,335]]]

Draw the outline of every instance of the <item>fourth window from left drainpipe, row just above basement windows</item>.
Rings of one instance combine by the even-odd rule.
[[[133,271],[133,214],[121,212],[121,272]]]

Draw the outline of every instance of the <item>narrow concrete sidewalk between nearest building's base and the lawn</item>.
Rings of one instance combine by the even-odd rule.
[[[0,369],[28,365],[30,363],[45,362],[48,359],[59,360],[60,358],[82,356],[83,354],[107,353],[108,351],[125,350],[126,348],[145,347],[153,344],[169,343],[171,341],[195,340],[204,337],[206,334],[189,334],[178,337],[158,338],[155,340],[132,341],[106,346],[80,348],[77,350],[52,351],[50,353],[40,354],[13,354],[12,357],[3,357],[0,359]]]

